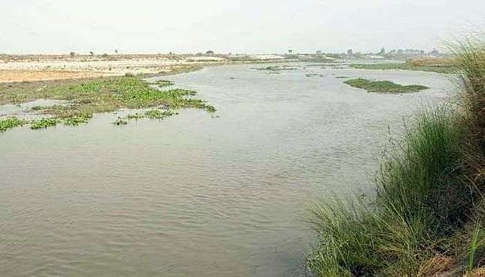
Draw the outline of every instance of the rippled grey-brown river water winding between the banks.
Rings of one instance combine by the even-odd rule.
[[[436,73],[300,66],[166,78],[200,91],[217,116],[184,110],[116,127],[102,114],[0,134],[0,275],[303,274],[308,205],[371,193],[389,132],[453,87]],[[366,93],[336,76],[431,89]]]

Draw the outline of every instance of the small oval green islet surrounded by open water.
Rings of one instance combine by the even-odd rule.
[[[344,84],[349,84],[349,86],[356,87],[358,89],[365,89],[367,92],[407,93],[429,89],[429,87],[418,84],[404,86],[391,81],[371,81],[363,78],[346,80]]]

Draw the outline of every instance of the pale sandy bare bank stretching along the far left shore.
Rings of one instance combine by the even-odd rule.
[[[281,57],[196,55],[0,55],[0,82],[170,73],[181,66],[282,60]]]

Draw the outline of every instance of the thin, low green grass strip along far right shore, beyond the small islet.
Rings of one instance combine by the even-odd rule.
[[[377,70],[410,70],[410,71],[427,71],[436,73],[456,73],[457,66],[452,64],[433,64],[421,65],[413,62],[403,63],[382,63],[382,64],[351,64],[355,69],[377,69]]]

